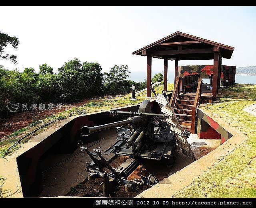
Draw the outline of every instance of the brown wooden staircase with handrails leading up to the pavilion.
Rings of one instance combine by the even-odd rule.
[[[198,77],[196,92],[184,93],[183,80],[177,77],[173,95],[170,100],[180,126],[183,129],[189,130],[191,133],[195,133],[196,131],[197,110],[201,102],[201,88],[202,77]]]

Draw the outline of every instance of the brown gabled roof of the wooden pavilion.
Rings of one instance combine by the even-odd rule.
[[[234,47],[177,31],[132,54],[152,55],[154,58],[169,60],[199,60],[214,59],[214,51],[219,51],[221,57],[230,59]]]

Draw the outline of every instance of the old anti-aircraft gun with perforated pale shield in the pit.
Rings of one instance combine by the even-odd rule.
[[[140,175],[141,179],[127,180],[127,177],[138,167],[139,161],[143,159],[161,161],[172,166],[180,148],[184,155],[194,159],[194,154],[186,140],[190,132],[181,129],[166,94],[158,94],[156,102],[164,114],[152,113],[149,100],[144,100],[138,112],[119,110],[109,112],[114,115],[128,116],[126,120],[101,126],[82,127],[81,134],[84,137],[97,131],[117,128],[116,142],[104,151],[104,154],[114,153],[118,156],[130,157],[118,168],[113,169],[102,156],[100,147],[93,152],[90,152],[88,147],[81,147],[92,159],[92,162],[86,165],[88,180],[102,178],[104,197],[118,191],[120,185],[125,185],[127,192],[139,192],[144,186],[150,188],[158,183],[158,179],[152,174]],[[104,167],[110,172],[104,171]]]

